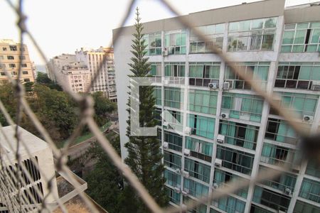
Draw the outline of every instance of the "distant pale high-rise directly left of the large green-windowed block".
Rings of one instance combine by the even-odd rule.
[[[117,91],[114,80],[114,63],[113,63],[113,49],[99,48],[97,50],[81,50],[75,51],[75,57],[78,61],[84,61],[90,70],[91,79],[99,70],[100,62],[106,57],[107,60],[102,65],[102,72],[93,82],[91,92],[101,91],[112,101],[117,102]]]

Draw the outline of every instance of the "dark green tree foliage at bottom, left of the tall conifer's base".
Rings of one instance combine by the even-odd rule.
[[[120,154],[119,136],[112,136],[110,143]],[[122,175],[112,164],[105,151],[95,144],[89,151],[91,158],[97,159],[95,168],[85,176],[87,194],[110,213],[122,212]]]

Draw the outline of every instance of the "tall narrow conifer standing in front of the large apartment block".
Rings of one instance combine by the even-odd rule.
[[[136,31],[133,34],[134,39],[132,40],[131,50],[133,57],[131,58],[132,63],[129,64],[133,75],[130,75],[130,77],[148,77],[151,65],[148,62],[149,58],[145,57],[146,44],[142,34],[144,27],[142,23],[140,23],[139,9],[137,9],[136,15],[136,23],[134,24]],[[154,104],[156,99],[153,93],[154,87],[139,88],[140,127],[156,126],[156,120],[154,119]],[[128,106],[130,107],[129,100]],[[129,109],[128,111],[130,114]],[[127,120],[127,124],[129,124],[127,129],[129,142],[125,145],[128,151],[128,157],[125,159],[125,163],[127,163],[137,175],[140,182],[142,182],[156,202],[160,206],[165,206],[168,202],[168,197],[166,196],[164,188],[164,165],[161,164],[163,155],[160,151],[160,143],[156,136],[130,136],[130,118]],[[127,198],[130,197],[130,195],[124,196]],[[149,212],[149,209],[147,209],[146,205],[135,193],[131,193],[131,196],[133,200],[137,200],[137,212]]]

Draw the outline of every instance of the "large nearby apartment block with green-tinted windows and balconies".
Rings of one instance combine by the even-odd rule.
[[[320,6],[284,8],[284,0],[259,1],[185,16],[210,39],[205,43],[178,18],[144,23],[155,88],[159,141],[172,205],[208,195],[230,180],[260,170],[292,170],[250,185],[191,212],[320,212],[320,168],[301,160],[297,135],[269,104],[230,71],[210,45],[220,46],[279,106],[315,132],[320,122]],[[114,30],[114,34],[119,29]],[[114,45],[122,158],[128,119],[129,65],[134,26]],[[286,105],[284,105],[286,104]]]

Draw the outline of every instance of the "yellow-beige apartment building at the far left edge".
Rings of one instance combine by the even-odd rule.
[[[20,55],[21,50],[23,50],[23,55]],[[13,79],[17,79],[20,60],[22,60],[21,82],[34,82],[27,46],[11,39],[0,39],[0,83],[8,81],[4,69],[11,73]]]

